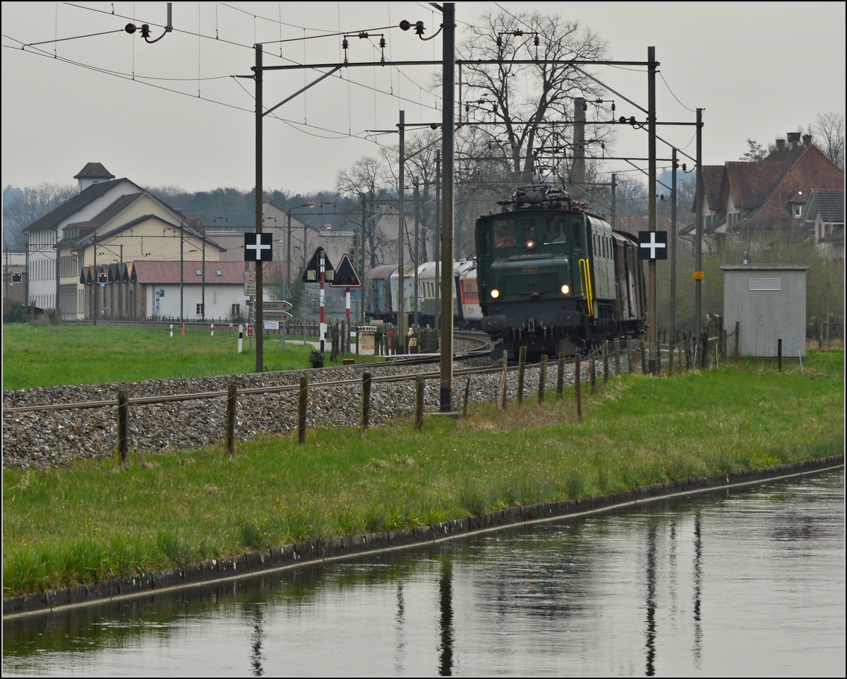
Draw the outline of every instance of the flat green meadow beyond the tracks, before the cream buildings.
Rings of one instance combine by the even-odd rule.
[[[178,324],[170,337],[169,328],[8,323],[3,325],[3,389],[253,373],[255,340],[252,353],[247,353],[248,346],[245,338],[245,353],[237,352],[237,326],[232,330],[219,326],[214,337],[208,328],[186,328],[183,354]],[[290,341],[285,343],[283,352],[280,336],[267,335],[264,368],[274,371],[310,367],[311,352],[311,347]],[[350,355],[340,358],[344,356]],[[374,360],[369,356],[354,357],[357,362]]]

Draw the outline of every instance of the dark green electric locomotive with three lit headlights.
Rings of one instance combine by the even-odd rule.
[[[555,186],[523,186],[476,223],[482,328],[510,359],[570,356],[644,333],[638,239]]]

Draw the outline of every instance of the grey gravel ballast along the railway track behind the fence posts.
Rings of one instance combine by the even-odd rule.
[[[623,371],[626,356],[622,357]],[[457,362],[455,367],[490,366],[487,359]],[[614,364],[610,361],[610,372]],[[636,367],[636,370],[638,367]],[[22,468],[69,466],[75,460],[103,458],[113,455],[117,427],[113,407],[86,410],[8,412],[9,407],[110,400],[118,389],[128,389],[130,398],[191,394],[202,391],[225,391],[235,381],[240,389],[282,384],[298,384],[308,375],[309,383],[353,379],[357,384],[332,388],[309,389],[307,426],[309,428],[356,427],[361,407],[362,373],[370,370],[374,377],[410,373],[435,373],[427,379],[425,410],[439,410],[438,365],[392,366],[390,364],[354,365],[329,369],[286,371],[209,378],[148,380],[133,383],[76,384],[70,386],[13,389],[3,393],[3,466]],[[538,390],[538,367],[528,367],[524,378],[525,398],[534,398]],[[556,362],[547,369],[546,389],[556,389]],[[597,363],[598,380],[602,379],[602,363]],[[473,375],[470,379],[469,403],[497,398],[500,373]],[[588,380],[588,369],[582,379]],[[507,397],[517,394],[517,371],[510,371]],[[453,381],[453,410],[460,410],[467,378]],[[573,384],[573,365],[565,369],[565,384]],[[224,436],[225,396],[204,400],[186,400],[147,406],[130,406],[130,450],[155,452],[169,449],[192,449],[218,444]],[[371,426],[378,427],[398,417],[411,417],[414,412],[414,381],[374,383],[371,395]],[[280,394],[239,395],[235,436],[245,440],[260,434],[290,433],[296,430],[296,391]]]

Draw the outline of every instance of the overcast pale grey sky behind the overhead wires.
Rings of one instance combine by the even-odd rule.
[[[693,109],[705,108],[707,164],[739,159],[748,137],[767,146],[818,113],[844,113],[844,3],[500,6],[512,13],[579,20],[606,41],[607,58],[645,60],[647,46],[655,46],[667,81],[666,86],[658,80],[658,117],[693,121]],[[3,186],[70,182],[85,163],[97,161],[141,185],[249,189],[254,184],[254,84],[230,76],[251,73],[254,42],[372,30],[385,33],[386,58],[440,58],[440,36],[424,42],[412,31],[379,30],[401,19],[422,19],[426,35],[432,35],[440,15],[426,3],[174,3],[176,30],[152,45],[138,33],[120,31],[20,49],[21,43],[120,30],[130,18],[136,25],[163,25],[165,7],[3,3]],[[497,9],[496,3],[457,3],[459,39],[467,25]],[[151,32],[162,34],[158,26]],[[378,38],[352,38],[351,61],[378,60],[377,43]],[[341,58],[339,37],[277,43],[267,50],[275,57],[267,56],[266,65]],[[440,120],[434,70],[350,69],[285,104],[276,112],[283,120],[266,118],[265,188],[334,188],[340,168],[377,155],[367,130],[394,128],[401,108],[407,122]],[[595,74],[646,106],[643,71],[606,68]],[[315,71],[268,73],[264,101],[280,102],[317,76]],[[617,114],[643,117],[620,99]],[[645,156],[645,133],[620,130],[615,151]],[[692,156],[693,133],[693,128],[660,132]],[[395,141],[393,135],[378,139]],[[610,172],[624,168],[606,166]]]

